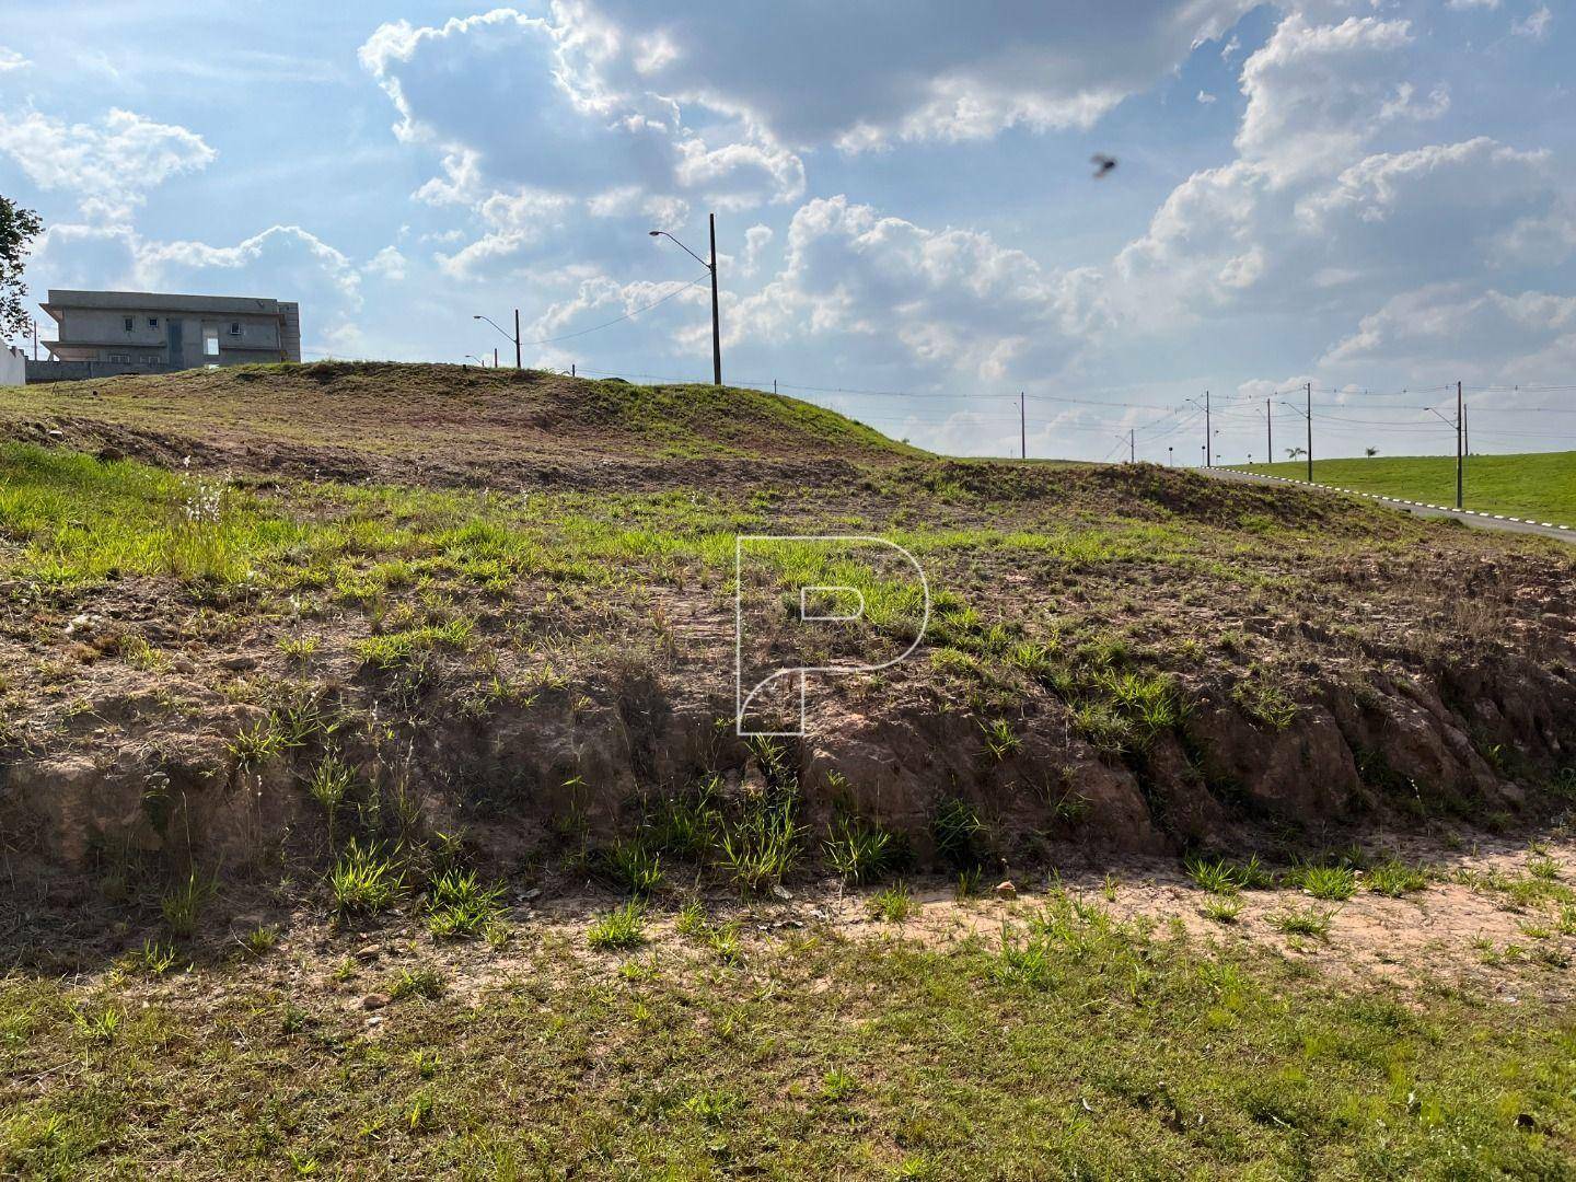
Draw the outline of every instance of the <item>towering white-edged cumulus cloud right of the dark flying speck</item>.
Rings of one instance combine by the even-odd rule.
[[[1231,164],[1179,184],[1116,260],[1128,322],[1162,331],[1243,312],[1329,314],[1568,247],[1551,156],[1488,137],[1371,151],[1444,98],[1396,77],[1404,22],[1288,16],[1243,65]],[[1544,255],[1544,262],[1549,255]]]

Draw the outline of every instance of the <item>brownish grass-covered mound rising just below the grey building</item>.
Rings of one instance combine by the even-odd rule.
[[[0,389],[0,432],[154,463],[427,485],[593,489],[747,479],[919,455],[753,389],[539,370],[317,362]],[[58,432],[50,435],[50,432]]]

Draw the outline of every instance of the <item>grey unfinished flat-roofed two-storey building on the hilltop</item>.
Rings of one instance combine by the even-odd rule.
[[[301,359],[301,309],[282,299],[50,288],[41,307],[57,333],[28,381]]]

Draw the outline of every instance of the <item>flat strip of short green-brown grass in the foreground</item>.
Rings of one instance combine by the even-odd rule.
[[[1565,1177],[1576,1149],[1557,1005],[1343,988],[1070,900],[1004,944],[807,933],[750,972],[548,941],[473,996],[413,966],[375,1037],[255,971],[202,1004],[0,979],[33,1081],[0,1083],[0,1173]]]

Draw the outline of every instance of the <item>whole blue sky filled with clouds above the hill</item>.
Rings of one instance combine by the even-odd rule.
[[[519,309],[709,380],[648,232],[716,213],[725,380],[925,448],[1198,463],[1207,400],[1286,459],[1311,386],[1316,454],[1445,454],[1459,381],[1474,451],[1570,449],[1573,60],[1567,0],[8,0],[0,192],[35,299],[296,299],[309,359]]]

